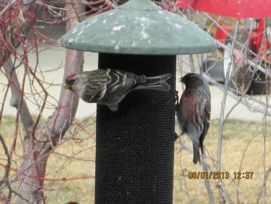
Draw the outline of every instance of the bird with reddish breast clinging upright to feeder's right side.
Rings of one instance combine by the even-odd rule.
[[[186,134],[193,143],[193,163],[200,164],[203,155],[203,141],[210,125],[211,95],[208,82],[197,73],[187,73],[180,82],[186,88],[178,101],[176,93],[176,116],[180,135]]]

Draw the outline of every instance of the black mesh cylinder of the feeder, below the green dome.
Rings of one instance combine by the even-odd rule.
[[[99,54],[99,68],[171,73],[168,92],[136,90],[117,112],[97,105],[95,203],[172,203],[176,56]]]

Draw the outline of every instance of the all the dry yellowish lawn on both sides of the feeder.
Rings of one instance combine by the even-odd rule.
[[[267,152],[266,162],[267,168],[271,165],[271,134],[270,134],[271,122],[267,124]],[[12,143],[14,135],[14,118],[4,117],[0,126],[1,133],[5,137],[9,147]],[[216,158],[217,143],[218,143],[218,120],[212,120],[209,133],[205,139],[204,145],[208,152]],[[244,162],[242,165],[242,172],[253,171],[252,180],[240,180],[240,192],[246,199],[247,203],[255,203],[260,186],[263,180],[263,132],[260,131],[262,127],[261,122],[255,121],[240,121],[240,120],[228,120],[225,125],[224,140],[223,140],[223,153],[222,163],[225,171],[230,172],[233,175],[234,171],[239,170],[240,160],[243,156],[244,149],[249,140],[255,137],[250,143],[247,152],[245,154]],[[21,127],[20,127],[20,130]],[[68,156],[72,156],[82,149],[85,151],[77,154],[76,158],[95,160],[95,140],[89,137],[95,133],[95,125],[87,127],[86,132],[80,132],[76,138],[84,139],[82,143],[78,144],[75,141],[69,141],[59,146],[56,151]],[[258,133],[259,132],[259,133]],[[257,134],[258,133],[258,134]],[[69,134],[69,133],[68,133]],[[66,136],[68,135],[66,134]],[[19,166],[19,158],[21,155],[21,140],[18,138],[16,147],[15,161],[12,163],[12,167]],[[184,136],[183,141],[191,146],[191,141]],[[173,203],[189,203],[189,197],[194,203],[209,203],[207,191],[204,187],[203,180],[189,180],[189,171],[202,171],[202,168],[197,164],[192,164],[192,154],[183,150],[179,152],[179,144],[175,145],[175,166],[174,166],[174,201]],[[4,151],[0,148],[0,164],[5,164]],[[180,167],[180,161],[182,163],[183,171]],[[209,164],[214,168],[212,160],[207,160]],[[0,177],[3,176],[4,168],[0,166]],[[214,168],[215,171],[215,168]],[[58,154],[52,154],[49,158],[47,165],[47,178],[59,179],[59,178],[72,178],[83,177],[95,174],[95,163],[93,161],[82,161],[67,158]],[[183,176],[184,173],[184,176]],[[13,173],[14,174],[14,173]],[[236,203],[236,184],[237,180],[224,180],[227,190],[229,191],[232,199]],[[270,186],[270,177],[267,180],[267,186]],[[186,185],[185,185],[186,183]],[[216,203],[218,203],[218,188],[216,187],[217,181],[211,180],[212,189],[214,191]],[[14,184],[16,185],[16,184]],[[73,181],[45,181],[47,203],[65,203],[66,201],[78,201],[83,203],[94,203],[94,179],[81,179]],[[186,190],[187,188],[187,190]],[[187,192],[189,193],[189,196]],[[267,203],[271,202],[271,191],[267,189]],[[241,203],[243,202],[242,196],[240,196]],[[263,203],[261,199],[260,203]]]

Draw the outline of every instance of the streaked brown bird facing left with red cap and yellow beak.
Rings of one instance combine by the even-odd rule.
[[[166,81],[170,73],[157,77],[146,77],[120,69],[96,69],[69,75],[63,85],[77,93],[86,103],[107,105],[111,111],[118,110],[118,104],[132,90],[155,89],[168,91]]]

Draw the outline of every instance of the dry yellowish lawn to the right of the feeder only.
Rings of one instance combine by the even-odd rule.
[[[267,143],[266,143],[266,163],[267,167],[271,165],[271,134],[270,124],[267,124]],[[228,120],[224,129],[224,140],[222,150],[222,165],[224,170],[228,171],[233,176],[233,172],[239,171],[240,161],[243,157],[244,150],[249,140],[255,137],[247,148],[243,165],[241,167],[242,172],[253,171],[253,179],[240,180],[239,190],[242,192],[247,203],[255,203],[258,192],[263,181],[263,132],[260,131],[262,124],[256,121],[241,121],[241,120]],[[208,152],[216,159],[217,155],[217,143],[218,143],[218,129],[219,121],[212,120],[209,133],[205,138],[204,145]],[[257,133],[259,134],[257,135]],[[191,145],[191,142],[187,137],[184,137],[184,141]],[[179,145],[175,146],[175,152],[179,149]],[[209,203],[208,194],[204,187],[203,180],[189,180],[187,175],[189,171],[202,171],[199,165],[193,165],[192,154],[188,154],[187,151],[182,152],[182,167],[185,173],[185,179],[187,183],[188,192],[191,200],[198,199],[196,203]],[[212,164],[212,160],[208,159],[208,164]],[[211,165],[216,171],[214,165]],[[185,190],[185,181],[182,176],[182,170],[180,168],[180,154],[176,153],[175,166],[174,166],[174,203],[188,203],[188,195],[182,191]],[[230,179],[224,180],[227,190],[229,191],[232,199],[236,203],[236,185],[237,180]],[[267,180],[267,186],[270,186],[271,178]],[[216,187],[217,181],[210,180],[212,189],[215,195],[215,201],[218,203],[218,188]],[[269,202],[271,202],[270,189],[267,191],[269,195]],[[240,197],[241,203],[244,203],[242,197]],[[260,203],[263,203],[261,200]],[[267,202],[268,203],[268,202]]]

